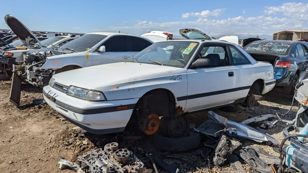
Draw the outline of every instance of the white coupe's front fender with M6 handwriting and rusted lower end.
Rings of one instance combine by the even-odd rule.
[[[103,91],[107,100],[141,98],[147,92],[155,89],[170,91],[175,97],[176,106],[184,109],[186,100],[177,101],[176,98],[187,95],[187,69],[176,68],[158,71],[113,81],[112,83],[109,82],[102,87],[92,88],[92,90]]]

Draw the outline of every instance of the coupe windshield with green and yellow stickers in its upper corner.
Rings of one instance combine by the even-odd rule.
[[[157,42],[136,54],[128,62],[135,60],[140,63],[158,65],[162,63],[164,66],[184,67],[197,49],[198,44],[198,42],[188,41]]]

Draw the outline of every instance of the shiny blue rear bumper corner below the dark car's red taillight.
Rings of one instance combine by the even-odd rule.
[[[274,79],[276,86],[289,86],[296,71],[289,71],[289,68],[274,67]]]

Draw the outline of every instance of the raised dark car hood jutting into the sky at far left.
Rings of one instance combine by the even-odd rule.
[[[36,40],[41,46],[42,43],[32,34],[32,32],[22,24],[17,18],[14,16],[7,14],[4,17],[6,24],[12,29],[14,34],[22,41],[25,46],[30,46],[29,42],[31,40]],[[43,47],[43,46],[42,46]]]

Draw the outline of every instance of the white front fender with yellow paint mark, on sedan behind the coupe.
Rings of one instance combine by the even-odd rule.
[[[47,57],[47,61],[41,70],[56,70],[64,66],[76,65],[80,67],[92,66],[92,52],[78,52]]]

